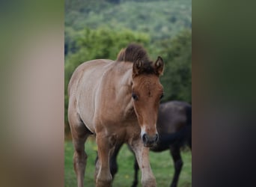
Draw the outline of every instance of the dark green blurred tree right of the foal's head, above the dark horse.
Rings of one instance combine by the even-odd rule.
[[[161,77],[165,89],[163,102],[183,100],[192,103],[192,32],[185,30],[174,39],[162,40],[157,45],[165,61]]]

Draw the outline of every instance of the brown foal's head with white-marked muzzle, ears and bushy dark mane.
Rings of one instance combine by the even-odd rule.
[[[119,56],[119,60],[132,61],[132,100],[133,108],[141,126],[141,139],[145,147],[152,147],[158,141],[156,119],[163,88],[159,82],[163,61],[155,62],[147,58],[141,46],[130,45]]]

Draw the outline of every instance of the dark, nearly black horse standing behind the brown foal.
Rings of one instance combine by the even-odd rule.
[[[192,106],[187,102],[171,101],[159,106],[159,114],[156,123],[159,141],[156,146],[150,147],[153,152],[170,150],[174,160],[174,177],[171,187],[176,187],[179,180],[183,161],[180,156],[180,148],[188,145],[192,150]],[[112,176],[118,172],[117,156],[122,144],[115,147],[110,159]],[[138,163],[134,164],[135,176],[132,187],[138,184]]]

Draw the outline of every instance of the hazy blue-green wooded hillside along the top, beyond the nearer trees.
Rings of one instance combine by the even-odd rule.
[[[115,1],[117,2],[117,1]],[[152,40],[170,38],[192,26],[191,0],[169,1],[66,1],[65,27],[128,28],[150,35]]]

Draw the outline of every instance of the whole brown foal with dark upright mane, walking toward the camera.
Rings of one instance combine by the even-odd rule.
[[[159,139],[156,119],[163,94],[159,82],[163,67],[162,58],[150,61],[141,46],[131,44],[116,61],[98,59],[76,68],[68,85],[68,120],[79,187],[84,186],[89,135],[96,136],[99,153],[96,187],[112,185],[109,158],[124,143],[135,153],[142,186],[156,187],[148,153]]]

